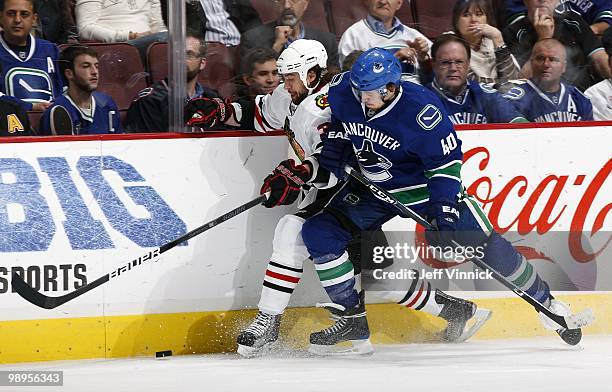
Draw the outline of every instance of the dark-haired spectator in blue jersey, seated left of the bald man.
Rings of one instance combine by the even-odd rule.
[[[467,41],[455,34],[442,34],[431,48],[435,77],[428,87],[440,96],[451,122],[527,122],[498,91],[468,79],[470,53]]]

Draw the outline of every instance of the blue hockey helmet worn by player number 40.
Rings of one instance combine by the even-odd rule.
[[[386,90],[389,83],[399,85],[402,66],[391,52],[371,48],[357,58],[351,67],[351,85],[358,91]]]

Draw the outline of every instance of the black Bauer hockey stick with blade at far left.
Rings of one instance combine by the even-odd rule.
[[[27,284],[25,282],[25,280],[23,280],[23,278],[13,272],[12,275],[12,280],[11,280],[11,284],[13,286],[13,289],[17,292],[17,294],[19,294],[23,299],[25,299],[26,301],[44,308],[44,309],[54,309],[57,308],[58,306],[65,304],[68,301],[71,301],[77,297],[80,297],[81,295],[87,293],[90,290],[95,289],[98,286],[103,285],[104,283],[108,282],[111,279],[117,278],[119,277],[121,274],[124,274],[128,271],[131,271],[132,269],[134,269],[135,267],[144,264],[145,262],[151,261],[153,259],[155,259],[156,257],[158,257],[159,255],[161,255],[162,253],[174,248],[175,246],[177,246],[178,244],[185,242],[199,234],[202,234],[203,232],[205,232],[208,229],[212,229],[213,227],[219,225],[220,223],[223,223],[227,220],[230,220],[231,218],[235,217],[238,214],[241,214],[253,207],[255,207],[256,205],[266,201],[269,197],[269,193],[265,193],[263,195],[258,196],[257,198],[249,201],[246,204],[241,205],[240,207],[234,208],[233,210],[221,215],[218,218],[213,219],[212,221],[191,230],[190,232],[180,236],[179,238],[168,242],[167,244],[164,244],[162,246],[160,246],[159,248],[153,249],[149,252],[147,252],[146,254],[128,262],[127,264],[123,264],[122,266],[116,268],[115,270],[113,270],[112,272],[101,276],[100,278],[94,280],[91,283],[86,284],[85,286],[82,286],[78,289],[76,289],[75,291],[72,291],[68,294],[64,294],[64,295],[60,295],[58,297],[50,297],[47,295],[44,295],[38,291],[36,291],[34,288],[32,288],[29,284]]]

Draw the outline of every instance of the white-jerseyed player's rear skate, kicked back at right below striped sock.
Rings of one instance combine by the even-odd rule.
[[[459,343],[471,338],[491,317],[488,309],[478,309],[475,303],[450,296],[436,289],[436,302],[442,305],[439,316],[448,321],[442,341]],[[468,321],[472,320],[468,326]]]

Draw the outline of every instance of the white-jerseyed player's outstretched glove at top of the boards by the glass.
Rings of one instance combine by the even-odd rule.
[[[194,98],[185,105],[185,124],[192,127],[212,128],[233,115],[234,107],[229,99]]]

